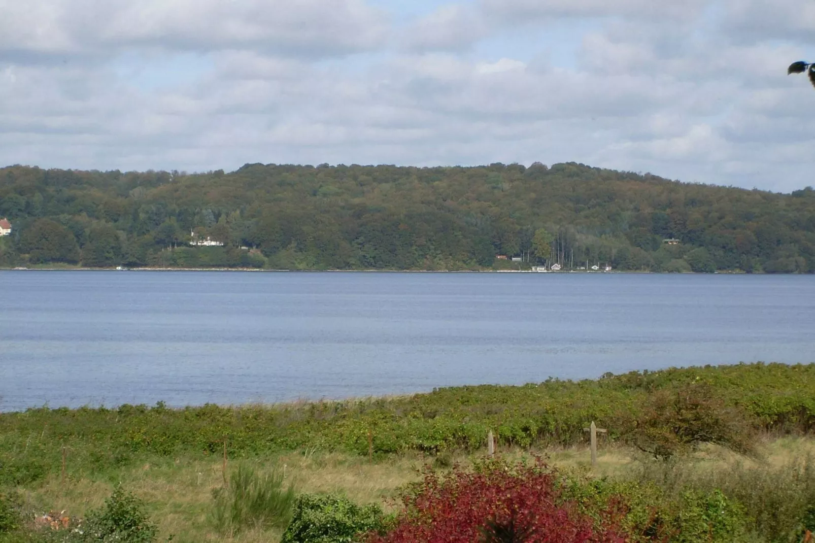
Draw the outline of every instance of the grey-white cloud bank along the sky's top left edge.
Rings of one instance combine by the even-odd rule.
[[[369,51],[385,15],[363,0],[0,0],[0,55],[126,47],[335,56]]]

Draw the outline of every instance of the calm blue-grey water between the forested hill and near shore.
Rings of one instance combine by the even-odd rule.
[[[815,276],[0,272],[0,410],[815,361]]]

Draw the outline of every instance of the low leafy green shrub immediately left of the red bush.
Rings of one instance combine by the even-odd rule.
[[[280,543],[350,543],[366,532],[381,532],[385,515],[378,505],[360,506],[346,497],[302,494]]]

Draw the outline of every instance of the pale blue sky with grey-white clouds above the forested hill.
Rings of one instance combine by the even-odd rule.
[[[0,165],[813,183],[815,0],[0,0]]]

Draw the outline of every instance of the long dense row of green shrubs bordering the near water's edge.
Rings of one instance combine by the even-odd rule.
[[[700,386],[731,422],[778,432],[815,428],[815,364],[666,369],[269,406],[32,408],[0,414],[0,485],[41,478],[59,466],[63,445],[75,461],[78,456],[83,465],[104,468],[127,464],[138,453],[219,454],[225,439],[231,457],[298,448],[367,454],[369,432],[378,454],[472,451],[483,447],[487,430],[501,446],[569,445],[585,439],[590,421],[619,439],[654,411],[655,402]]]

